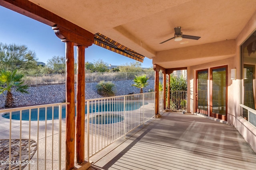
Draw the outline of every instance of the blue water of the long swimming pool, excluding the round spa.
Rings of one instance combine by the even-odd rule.
[[[144,103],[147,104],[147,103]],[[126,103],[126,111],[139,109],[143,105],[142,102],[130,102]],[[90,105],[89,113],[101,112],[101,111],[124,111],[124,103],[108,103],[108,104],[92,104]],[[85,106],[85,114],[87,113],[87,106]],[[10,113],[5,113],[2,117],[10,119]],[[62,107],[62,118],[66,117],[66,107]],[[59,107],[53,107],[53,119],[59,118]],[[12,112],[12,119],[20,120],[20,111]],[[30,115],[31,121],[38,120],[38,110],[31,109]],[[39,120],[52,120],[52,107],[39,108]],[[22,120],[29,120],[29,110],[22,110]]]

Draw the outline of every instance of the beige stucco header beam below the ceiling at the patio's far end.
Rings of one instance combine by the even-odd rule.
[[[236,53],[234,39],[195,45],[190,47],[159,51],[153,57],[153,64],[164,68],[188,67],[233,57]]]

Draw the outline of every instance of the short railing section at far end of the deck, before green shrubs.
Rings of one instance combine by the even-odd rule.
[[[187,111],[187,91],[170,91],[170,109]]]

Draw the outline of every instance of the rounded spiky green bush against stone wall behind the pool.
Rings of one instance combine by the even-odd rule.
[[[115,96],[116,86],[112,82],[101,81],[96,85],[97,93],[104,97]]]

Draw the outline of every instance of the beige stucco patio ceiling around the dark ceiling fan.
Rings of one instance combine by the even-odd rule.
[[[160,51],[236,39],[256,12],[256,0],[30,1],[149,59]],[[173,37],[177,26],[201,38],[159,44]]]

